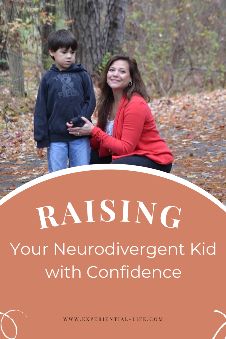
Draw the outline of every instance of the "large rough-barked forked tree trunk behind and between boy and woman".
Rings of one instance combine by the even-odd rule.
[[[107,0],[106,16],[101,34],[100,16],[103,2],[99,0],[64,0],[71,30],[78,42],[77,63],[83,63],[94,74],[106,52],[118,48],[123,39],[126,0]]]

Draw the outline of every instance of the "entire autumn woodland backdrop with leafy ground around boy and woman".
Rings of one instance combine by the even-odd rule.
[[[45,41],[61,28],[75,34],[96,92],[112,54],[137,60],[171,173],[226,204],[226,0],[0,0],[0,198],[48,173],[33,117],[52,63]]]

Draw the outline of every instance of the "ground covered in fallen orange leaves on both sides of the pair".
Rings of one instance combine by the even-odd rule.
[[[7,86],[1,88],[5,98],[1,92],[0,198],[48,173],[46,156],[37,155],[33,140],[37,89],[29,73],[25,84],[25,99],[10,96]],[[160,135],[174,155],[171,174],[200,186],[226,205],[226,89],[153,99],[151,109]]]

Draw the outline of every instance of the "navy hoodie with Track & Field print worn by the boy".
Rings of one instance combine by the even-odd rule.
[[[37,147],[81,137],[69,134],[66,122],[81,127],[81,117],[90,119],[96,107],[93,82],[82,64],[60,71],[54,64],[43,75],[35,106],[34,138]]]

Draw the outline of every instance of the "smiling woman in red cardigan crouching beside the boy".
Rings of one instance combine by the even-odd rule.
[[[144,166],[169,173],[173,155],[159,136],[137,62],[125,54],[112,56],[101,74],[97,126],[67,123],[70,134],[91,135],[91,160]]]

